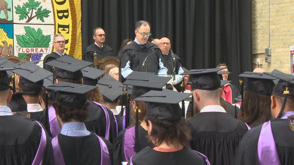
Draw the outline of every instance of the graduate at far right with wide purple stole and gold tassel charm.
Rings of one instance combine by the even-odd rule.
[[[233,164],[294,164],[294,131],[288,123],[288,116],[294,115],[294,76],[277,70],[273,72],[266,74],[280,79],[271,96],[271,114],[276,118],[252,128],[243,136]]]

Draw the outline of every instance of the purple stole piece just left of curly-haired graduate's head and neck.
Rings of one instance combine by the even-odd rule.
[[[55,109],[52,105],[48,108],[48,116],[49,116],[50,132],[51,132],[52,138],[54,138],[55,136],[60,134],[61,128],[59,127],[57,123]]]

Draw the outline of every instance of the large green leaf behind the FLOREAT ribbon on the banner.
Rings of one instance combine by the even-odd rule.
[[[36,31],[35,28],[31,27],[24,27],[25,28],[25,35],[15,35],[17,44],[23,48],[47,48],[49,47],[49,42],[51,41],[50,35],[43,35],[43,31],[38,28]],[[33,54],[32,58],[36,60],[40,60],[42,53],[40,54]],[[18,53],[18,57],[21,59],[25,59],[25,53]],[[40,59],[39,59],[40,57]]]

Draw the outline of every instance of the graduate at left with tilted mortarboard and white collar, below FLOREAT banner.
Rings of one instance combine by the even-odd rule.
[[[52,73],[31,61],[22,63],[19,67],[14,70],[19,75],[19,91],[33,92],[33,94],[25,94],[23,97],[28,104],[28,113],[31,119],[40,121],[39,115],[43,113],[43,108],[40,105],[39,96],[43,93],[43,79],[52,76]]]

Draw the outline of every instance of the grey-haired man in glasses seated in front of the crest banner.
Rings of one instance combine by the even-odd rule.
[[[53,47],[55,49],[55,52],[47,54],[45,58],[43,59],[43,68],[47,71],[51,71],[53,73],[53,67],[46,65],[47,62],[50,62],[52,60],[55,60],[59,57],[62,57],[64,55],[67,55],[64,52],[65,49],[65,39],[62,34],[56,34],[53,38]]]

